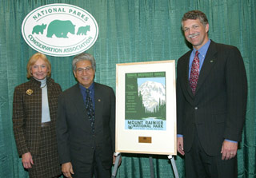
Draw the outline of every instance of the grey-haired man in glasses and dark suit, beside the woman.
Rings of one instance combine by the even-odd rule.
[[[115,97],[94,82],[95,61],[89,53],[74,57],[78,84],[58,99],[57,140],[66,177],[110,177],[114,157]]]

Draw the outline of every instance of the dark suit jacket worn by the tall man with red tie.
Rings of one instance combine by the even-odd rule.
[[[246,70],[236,47],[211,41],[193,95],[189,84],[190,53],[178,59],[178,134],[183,135],[185,152],[190,151],[198,133],[205,152],[216,156],[224,139],[241,140],[246,117]]]

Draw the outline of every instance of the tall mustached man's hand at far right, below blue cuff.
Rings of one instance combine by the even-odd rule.
[[[236,156],[238,151],[238,143],[224,140],[222,144],[222,160],[230,160]]]

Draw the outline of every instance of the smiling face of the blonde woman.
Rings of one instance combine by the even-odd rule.
[[[38,61],[31,66],[31,74],[38,80],[42,80],[47,76],[49,69],[47,68],[46,62],[42,58],[38,58]]]

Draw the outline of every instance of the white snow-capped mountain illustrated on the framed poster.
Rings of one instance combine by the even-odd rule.
[[[142,94],[142,102],[148,111],[153,112],[160,101],[166,101],[166,88],[155,81],[145,81],[138,87],[138,93]]]

